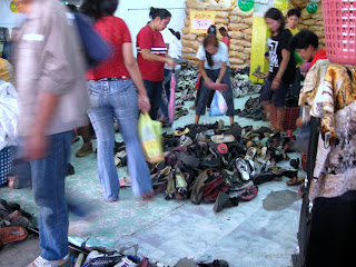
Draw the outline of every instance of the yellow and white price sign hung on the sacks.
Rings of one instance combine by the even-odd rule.
[[[190,32],[207,33],[208,28],[215,23],[215,11],[190,11]]]

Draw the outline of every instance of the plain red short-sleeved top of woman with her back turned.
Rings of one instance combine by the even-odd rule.
[[[132,42],[131,34],[125,21],[113,16],[102,17],[93,26],[101,38],[110,46],[111,56],[90,69],[88,80],[129,76],[122,57],[122,43]]]

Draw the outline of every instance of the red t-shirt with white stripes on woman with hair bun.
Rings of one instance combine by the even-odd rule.
[[[151,62],[142,58],[141,49],[149,49],[151,53],[166,57],[167,48],[159,31],[154,31],[149,26],[145,26],[136,37],[137,62],[141,71],[142,79],[150,81],[165,80],[165,63]]]

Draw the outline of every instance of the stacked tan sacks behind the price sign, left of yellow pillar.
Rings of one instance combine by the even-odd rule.
[[[215,24],[217,31],[219,28],[225,27],[227,29],[230,40],[229,61],[233,69],[244,69],[250,63],[251,55],[251,39],[253,39],[253,14],[254,11],[241,11],[238,8],[238,1],[236,0],[187,0],[187,18],[185,19],[186,27],[182,28],[184,46],[181,52],[182,57],[189,60],[190,65],[198,65],[196,53],[201,46],[206,33],[190,33],[190,11],[196,10],[209,10],[215,11]],[[218,39],[222,37],[218,32]]]

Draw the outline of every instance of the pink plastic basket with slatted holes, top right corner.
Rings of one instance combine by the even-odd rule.
[[[356,65],[356,0],[323,0],[327,58]]]

